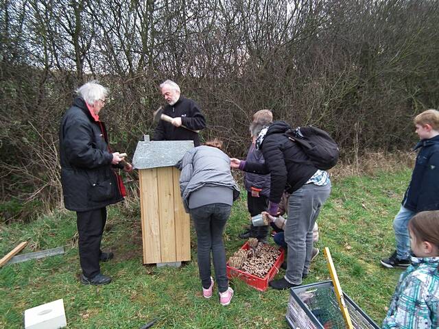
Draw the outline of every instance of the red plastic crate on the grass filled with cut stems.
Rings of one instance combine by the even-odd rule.
[[[241,249],[248,250],[248,242],[244,243],[244,245],[241,247]],[[265,291],[268,288],[268,282],[271,281],[274,276],[279,271],[279,268],[281,267],[283,263],[283,258],[285,257],[285,252],[282,248],[279,248],[279,251],[281,254],[276,259],[276,262],[274,263],[273,267],[268,271],[267,275],[264,278],[259,278],[258,276],[254,276],[250,273],[241,271],[240,269],[235,269],[235,267],[228,266],[227,262],[227,278],[239,278],[243,281],[245,281],[249,286],[258,289],[259,291]]]

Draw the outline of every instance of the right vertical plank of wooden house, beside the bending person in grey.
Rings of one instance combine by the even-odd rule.
[[[180,171],[172,169],[174,178],[174,214],[176,225],[176,258],[191,260],[191,221],[186,213],[180,194]]]

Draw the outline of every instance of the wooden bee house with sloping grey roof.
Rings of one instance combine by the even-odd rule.
[[[174,165],[193,141],[141,141],[133,166],[139,170],[143,264],[191,260],[189,214]]]

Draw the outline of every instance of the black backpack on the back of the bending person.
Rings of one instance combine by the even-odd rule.
[[[324,130],[311,126],[297,127],[290,128],[284,135],[302,147],[314,167],[327,170],[337,164],[338,145]]]

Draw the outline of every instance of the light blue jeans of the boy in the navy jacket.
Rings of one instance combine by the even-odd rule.
[[[399,259],[407,259],[410,256],[408,223],[414,215],[416,215],[416,212],[401,206],[398,215],[396,215],[393,221],[393,230],[395,231],[396,240],[396,257]]]

